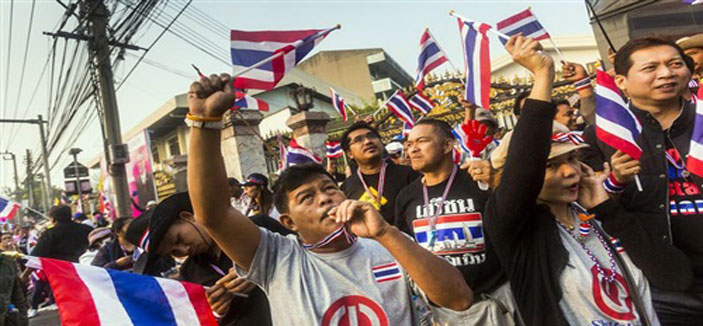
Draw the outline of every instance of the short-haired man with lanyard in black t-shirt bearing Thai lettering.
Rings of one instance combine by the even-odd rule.
[[[498,289],[494,296],[510,306],[508,287],[502,286],[505,276],[483,229],[482,211],[490,193],[454,164],[454,142],[444,121],[423,119],[410,131],[410,164],[424,177],[400,191],[395,225],[456,266],[475,294]]]

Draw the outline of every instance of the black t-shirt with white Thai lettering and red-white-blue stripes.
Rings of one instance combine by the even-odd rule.
[[[505,276],[483,228],[482,212],[490,192],[479,189],[465,170],[459,170],[433,232],[430,218],[448,181],[427,187],[429,211],[421,179],[405,187],[396,199],[396,226],[423,248],[456,266],[474,293],[491,292],[505,282]]]

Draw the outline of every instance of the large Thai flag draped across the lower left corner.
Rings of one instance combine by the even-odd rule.
[[[217,326],[201,285],[27,257],[49,279],[63,325]]]

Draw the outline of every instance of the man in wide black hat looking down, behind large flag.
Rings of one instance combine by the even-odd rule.
[[[266,295],[229,272],[232,261],[195,222],[188,193],[174,194],[134,220],[127,230],[127,239],[144,250],[135,264],[135,273],[158,275],[162,270],[159,257],[187,256],[179,278],[210,287],[206,292],[208,301],[213,311],[222,316],[220,325],[271,324]]]

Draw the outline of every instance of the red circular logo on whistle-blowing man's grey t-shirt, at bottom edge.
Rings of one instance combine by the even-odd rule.
[[[383,308],[359,295],[340,298],[322,316],[322,326],[389,326]]]

